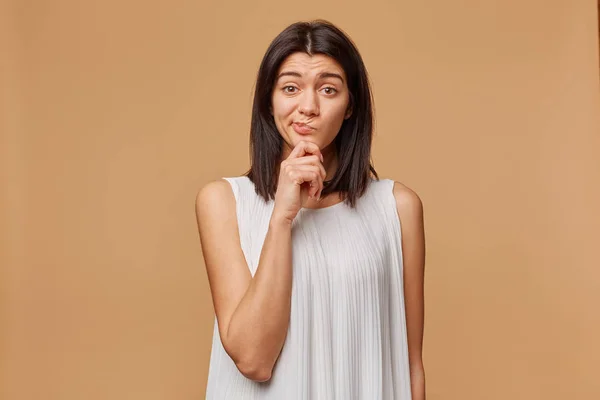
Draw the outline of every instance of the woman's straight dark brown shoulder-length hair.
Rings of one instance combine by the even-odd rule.
[[[250,126],[251,166],[245,175],[266,201],[275,198],[284,142],[270,113],[271,98],[279,67],[295,52],[327,55],[346,74],[352,114],[344,120],[334,140],[338,168],[332,179],[323,183],[322,195],[339,192],[354,207],[371,177],[379,179],[371,164],[373,99],[358,49],[341,29],[325,20],[296,22],[269,45],[256,80]]]

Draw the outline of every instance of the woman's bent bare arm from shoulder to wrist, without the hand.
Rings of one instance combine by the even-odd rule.
[[[254,277],[245,261],[228,182],[205,185],[196,217],[221,342],[249,379],[270,379],[288,330],[292,290],[291,221],[270,220]]]

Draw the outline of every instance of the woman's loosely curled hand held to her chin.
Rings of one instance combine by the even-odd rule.
[[[292,222],[309,197],[321,196],[326,176],[319,146],[299,142],[281,162],[273,215]]]

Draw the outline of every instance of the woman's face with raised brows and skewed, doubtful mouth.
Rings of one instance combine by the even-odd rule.
[[[301,140],[327,148],[351,115],[349,99],[346,74],[333,58],[306,53],[286,58],[271,98],[271,114],[287,145],[284,158]]]

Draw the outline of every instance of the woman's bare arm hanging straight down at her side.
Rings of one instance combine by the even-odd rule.
[[[408,359],[412,400],[425,400],[423,367],[425,229],[419,196],[400,182],[394,197],[401,223],[404,265],[404,300],[408,334]]]

